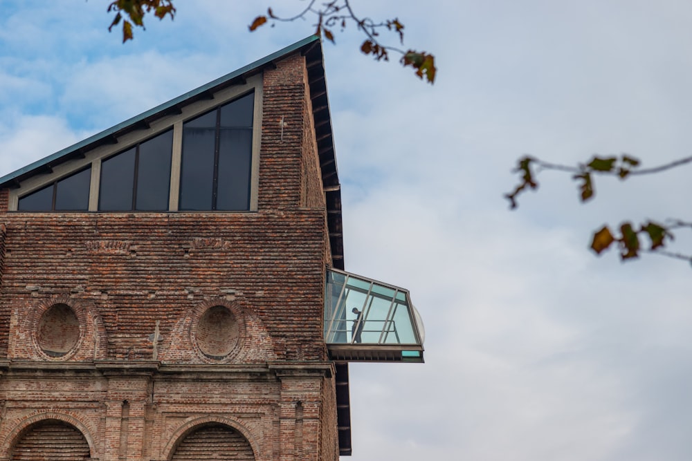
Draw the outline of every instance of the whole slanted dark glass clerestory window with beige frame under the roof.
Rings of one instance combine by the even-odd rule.
[[[261,77],[183,106],[148,133],[125,133],[33,176],[10,193],[17,211],[257,209]],[[257,89],[260,88],[260,89]],[[180,109],[180,108],[178,108]],[[124,141],[120,144],[120,141]],[[125,149],[123,149],[125,147]],[[73,171],[77,171],[74,173]],[[24,188],[26,186],[26,189]],[[28,192],[25,192],[28,189]]]

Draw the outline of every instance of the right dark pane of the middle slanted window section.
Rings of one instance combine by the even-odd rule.
[[[139,145],[136,209],[168,209],[173,131],[166,131]]]

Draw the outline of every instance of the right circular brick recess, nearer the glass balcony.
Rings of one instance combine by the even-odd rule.
[[[212,359],[222,359],[238,344],[238,323],[228,308],[208,308],[197,324],[197,347]]]

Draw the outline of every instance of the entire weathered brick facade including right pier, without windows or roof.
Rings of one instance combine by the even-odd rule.
[[[240,459],[338,458],[305,63],[275,64],[256,212],[31,214],[0,191],[0,460],[45,428],[78,431],[102,461],[215,443]]]

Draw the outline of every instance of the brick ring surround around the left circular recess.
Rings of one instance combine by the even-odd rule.
[[[39,323],[43,315],[56,304],[64,304],[69,306],[71,310],[75,313],[79,324],[80,333],[78,341],[75,346],[67,352],[65,355],[60,357],[52,357],[47,355],[39,345],[36,337],[36,333],[39,328]],[[83,350],[84,346],[91,346],[93,344],[94,350],[93,359],[105,358],[107,350],[107,337],[106,328],[103,325],[103,321],[96,311],[93,303],[89,301],[84,301],[80,299],[73,299],[68,294],[59,294],[54,297],[44,299],[37,303],[32,310],[29,310],[29,315],[26,319],[26,326],[30,332],[30,340],[33,345],[34,350],[40,357],[44,359],[50,359],[53,361],[65,361],[71,359],[79,352],[86,354]]]

